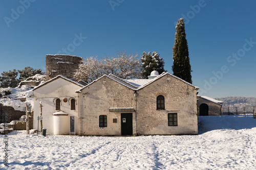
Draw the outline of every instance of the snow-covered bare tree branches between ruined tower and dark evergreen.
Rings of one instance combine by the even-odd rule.
[[[140,78],[141,63],[137,58],[138,55],[126,55],[126,52],[119,52],[117,56],[105,57],[101,60],[97,57],[88,57],[79,65],[74,79],[92,82],[109,74],[122,79]]]

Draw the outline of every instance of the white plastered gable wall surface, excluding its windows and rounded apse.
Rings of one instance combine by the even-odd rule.
[[[68,114],[68,121],[65,121],[68,128],[62,131],[63,134],[70,134],[70,116],[75,117],[75,134],[78,129],[78,95],[75,92],[81,88],[81,86],[74,84],[62,78],[58,78],[48,84],[41,86],[34,90],[34,129],[37,129],[37,117],[40,115],[39,103],[42,104],[42,127],[47,129],[47,133],[54,134],[54,121],[53,113],[57,112],[55,110],[55,104],[53,102],[54,98],[59,98],[61,100],[60,110]],[[70,98],[76,99],[76,110],[71,110]],[[67,98],[68,102],[64,102],[63,99]],[[66,127],[66,126],[63,126]],[[40,131],[40,121],[39,121],[39,131]]]

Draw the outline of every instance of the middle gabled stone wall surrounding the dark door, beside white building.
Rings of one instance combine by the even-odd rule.
[[[109,108],[135,107],[134,91],[108,77],[83,89],[79,98],[79,135],[121,135],[121,113],[124,112],[110,112]],[[133,113],[133,134],[136,134],[135,113],[129,113]],[[100,115],[107,115],[108,127],[99,127]],[[117,123],[113,123],[113,118]]]

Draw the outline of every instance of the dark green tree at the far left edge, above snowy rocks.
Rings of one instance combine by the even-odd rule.
[[[17,87],[19,84],[19,81],[16,79],[17,76],[18,71],[15,69],[13,69],[13,71],[4,71],[0,77],[0,87]]]

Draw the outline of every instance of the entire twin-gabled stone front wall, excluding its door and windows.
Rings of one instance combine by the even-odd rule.
[[[137,100],[137,134],[198,134],[195,87],[170,75],[140,89]],[[165,97],[165,110],[156,110],[158,95]],[[79,93],[79,135],[121,135],[121,113],[109,108],[136,108],[134,90],[103,77]],[[136,113],[133,134],[136,134]],[[168,113],[178,114],[178,126],[168,126]],[[108,116],[108,127],[99,128],[99,115]],[[117,123],[113,123],[117,118]]]

